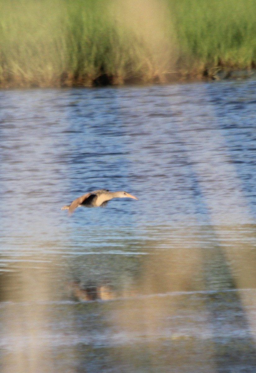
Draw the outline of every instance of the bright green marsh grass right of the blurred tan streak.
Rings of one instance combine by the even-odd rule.
[[[181,0],[171,6],[184,60],[233,68],[255,63],[255,1]]]

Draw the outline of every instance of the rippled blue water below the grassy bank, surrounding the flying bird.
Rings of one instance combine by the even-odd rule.
[[[0,91],[1,372],[255,372],[256,82]],[[87,191],[105,208],[60,210]]]

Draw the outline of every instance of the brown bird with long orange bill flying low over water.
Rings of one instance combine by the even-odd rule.
[[[71,214],[78,206],[103,207],[113,198],[133,198],[138,200],[134,195],[124,191],[110,192],[107,189],[98,189],[81,195],[81,197],[78,197],[71,202],[69,206],[61,207],[61,210],[69,210],[69,214]]]

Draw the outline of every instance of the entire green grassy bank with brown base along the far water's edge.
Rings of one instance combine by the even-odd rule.
[[[254,0],[0,3],[0,88],[218,79],[256,67]]]

